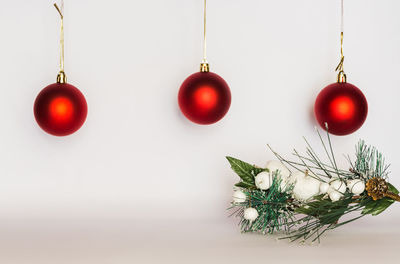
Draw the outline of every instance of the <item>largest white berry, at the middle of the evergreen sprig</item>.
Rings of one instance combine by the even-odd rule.
[[[319,193],[320,181],[303,172],[293,174],[296,183],[293,188],[294,198],[306,201]]]

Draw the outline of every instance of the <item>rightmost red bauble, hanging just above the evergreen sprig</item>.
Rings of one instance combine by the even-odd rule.
[[[318,123],[334,135],[348,135],[359,129],[368,114],[364,94],[350,83],[333,83],[325,87],[314,106]]]

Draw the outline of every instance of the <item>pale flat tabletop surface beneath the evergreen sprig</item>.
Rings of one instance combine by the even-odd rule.
[[[320,244],[240,234],[232,221],[31,219],[1,225],[2,263],[397,263],[396,221],[361,220]]]

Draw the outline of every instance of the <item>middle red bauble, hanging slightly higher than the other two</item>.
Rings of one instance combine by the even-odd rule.
[[[192,122],[209,125],[221,120],[231,106],[231,91],[219,75],[198,72],[182,84],[178,95],[182,113]]]

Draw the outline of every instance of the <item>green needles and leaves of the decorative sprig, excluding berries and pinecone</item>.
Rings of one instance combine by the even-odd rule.
[[[368,146],[360,140],[356,146],[356,159],[351,161],[349,170],[339,169],[336,163],[332,142],[327,133],[325,142],[317,131],[321,144],[324,149],[327,162],[323,161],[320,155],[306,142],[306,153],[300,154],[294,150],[297,161],[290,161],[277,152],[269,145],[268,147],[274,155],[287,167],[295,171],[302,171],[315,179],[330,183],[334,179],[346,183],[349,180],[359,179],[364,183],[373,178],[382,178],[385,181],[389,174],[389,165],[385,164],[385,159],[376,148]],[[273,183],[268,190],[259,190],[255,185],[255,177],[267,169],[259,168],[241,160],[227,157],[232,169],[240,177],[241,181],[236,184],[246,194],[246,201],[233,204],[231,209],[235,209],[233,214],[239,216],[240,226],[243,232],[259,232],[272,234],[275,231],[283,230],[286,236],[283,238],[295,240],[320,240],[322,234],[328,230],[338,228],[344,224],[353,222],[366,215],[378,215],[385,211],[395,201],[384,197],[374,200],[367,191],[360,195],[354,195],[350,190],[342,194],[343,197],[338,201],[332,201],[327,194],[314,196],[307,201],[299,201],[292,195],[295,181],[282,186],[282,179],[279,171],[271,172]],[[399,191],[387,182],[388,191],[399,194]],[[244,211],[247,208],[255,208],[259,217],[255,221],[244,218]],[[358,214],[357,214],[358,213]]]

